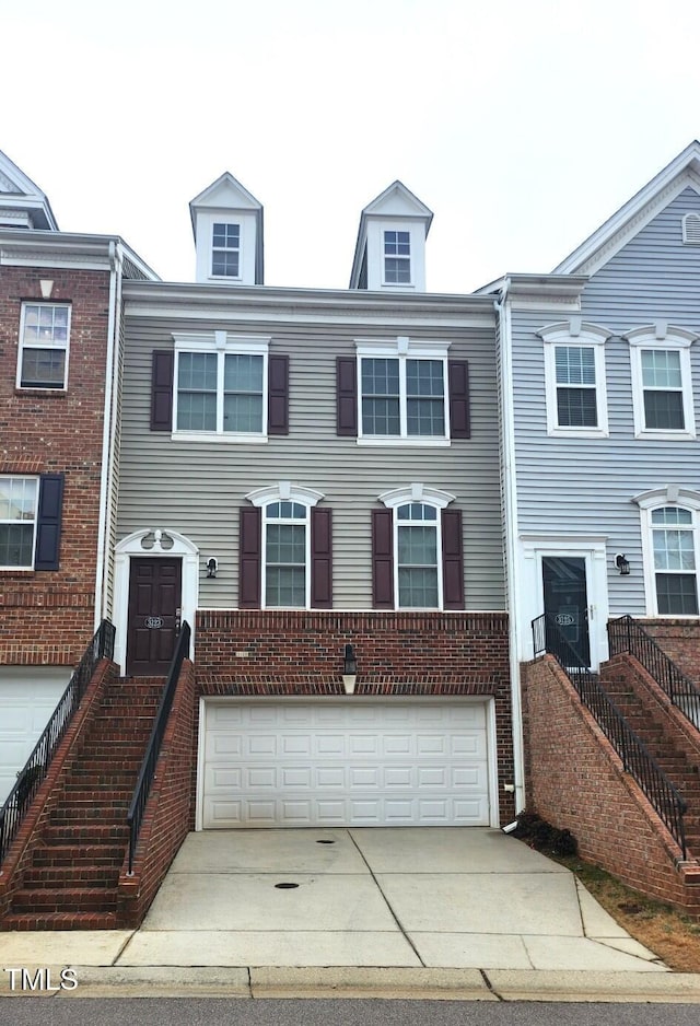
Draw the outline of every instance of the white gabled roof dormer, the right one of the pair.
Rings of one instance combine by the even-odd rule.
[[[425,238],[432,211],[394,182],[364,208],[350,276],[351,289],[425,291]]]

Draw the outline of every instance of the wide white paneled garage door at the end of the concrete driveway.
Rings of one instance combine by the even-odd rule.
[[[208,701],[202,826],[489,825],[486,706]]]

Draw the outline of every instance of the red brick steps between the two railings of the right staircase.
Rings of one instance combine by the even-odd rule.
[[[700,759],[692,758],[675,742],[670,722],[652,701],[644,698],[643,689],[633,686],[629,668],[608,664],[604,667],[602,684],[634,733],[646,745],[678,793],[688,803],[684,817],[688,858],[700,856]]]

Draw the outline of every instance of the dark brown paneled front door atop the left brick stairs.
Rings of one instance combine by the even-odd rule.
[[[167,673],[180,605],[180,559],[131,559],[127,674],[149,677]]]

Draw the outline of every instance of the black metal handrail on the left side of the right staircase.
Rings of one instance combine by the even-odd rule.
[[[576,689],[581,701],[595,716],[622,760],[625,771],[634,778],[666,824],[685,860],[687,849],[682,817],[688,809],[687,803],[603,688],[598,675],[583,666],[581,657],[563,636],[555,618],[542,614],[533,620],[532,627],[535,655],[549,652],[555,656]]]

